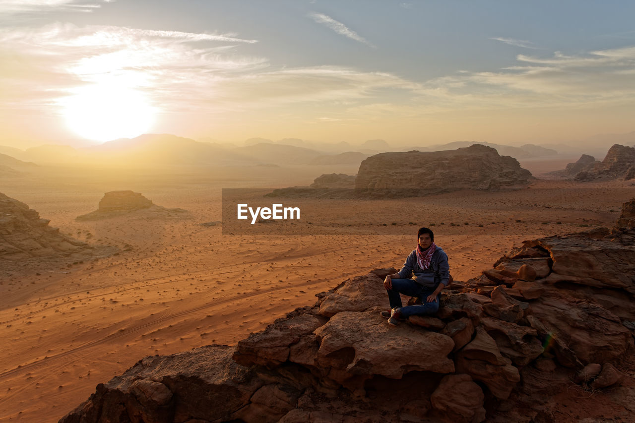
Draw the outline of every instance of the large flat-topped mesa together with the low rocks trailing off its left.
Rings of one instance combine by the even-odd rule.
[[[275,189],[267,196],[287,198],[399,198],[462,189],[517,189],[531,172],[496,149],[474,144],[448,151],[385,152],[366,158],[356,176],[331,173],[310,187]]]

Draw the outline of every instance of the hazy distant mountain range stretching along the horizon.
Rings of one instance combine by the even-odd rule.
[[[589,144],[596,140],[598,144],[606,144],[606,140],[630,140],[621,142],[623,145],[635,142],[635,131],[627,134],[594,135],[582,144]],[[591,141],[589,141],[591,140]],[[602,141],[600,141],[602,140]],[[268,138],[250,138],[243,146],[215,142],[213,138],[178,137],[171,134],[144,134],[135,138],[120,138],[104,144],[88,147],[70,147],[69,145],[39,145],[25,151],[13,147],[0,146],[0,154],[6,154],[22,161],[43,163],[83,163],[94,161],[97,164],[107,164],[109,161],[139,165],[166,164],[175,166],[206,166],[206,165],[238,165],[255,164],[257,166],[284,166],[286,164],[356,164],[357,155],[371,156],[390,151],[444,151],[481,144],[493,147],[502,156],[515,159],[551,158],[559,153],[573,154],[580,151],[592,154],[597,146],[589,151],[582,151],[577,145],[572,147],[564,144],[545,145],[524,144],[520,147],[493,144],[489,142],[457,141],[448,144],[431,146],[413,145],[411,147],[393,147],[382,139],[366,140],[353,145],[350,142],[338,143],[303,140],[301,138],[282,138],[274,141]],[[604,150],[606,151],[606,150]],[[4,166],[10,166],[6,163]],[[10,166],[11,167],[11,166]]]

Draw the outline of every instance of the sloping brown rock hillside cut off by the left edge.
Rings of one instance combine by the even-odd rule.
[[[117,250],[89,246],[64,236],[59,229],[50,227],[49,222],[25,203],[0,193],[0,263],[3,270],[16,267],[24,260],[42,264],[43,258],[77,260]]]

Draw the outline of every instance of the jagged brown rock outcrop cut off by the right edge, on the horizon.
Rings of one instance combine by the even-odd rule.
[[[567,166],[568,167],[568,166]],[[635,147],[615,144],[606,153],[603,161],[585,166],[575,175],[577,181],[608,180],[635,177]]]

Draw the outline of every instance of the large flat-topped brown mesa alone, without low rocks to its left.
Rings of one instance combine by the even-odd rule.
[[[376,154],[359,166],[355,186],[387,191],[391,196],[419,196],[460,189],[518,187],[531,178],[530,171],[522,169],[516,159],[474,144],[448,151]]]

